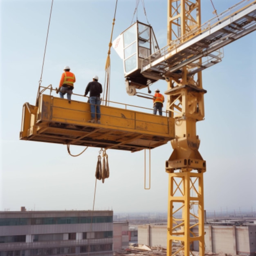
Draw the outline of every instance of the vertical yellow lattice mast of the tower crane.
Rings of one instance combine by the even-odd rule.
[[[201,25],[200,0],[168,0],[167,44],[181,38],[189,40],[192,29]],[[201,60],[198,61],[200,66]],[[167,255],[184,251],[190,255],[191,244],[198,241],[204,255],[203,173],[206,163],[198,148],[196,122],[204,119],[204,93],[201,71],[188,75],[182,67],[181,78],[167,77],[167,110],[175,119],[173,153],[166,161],[169,173]],[[174,247],[175,243],[180,246]]]

